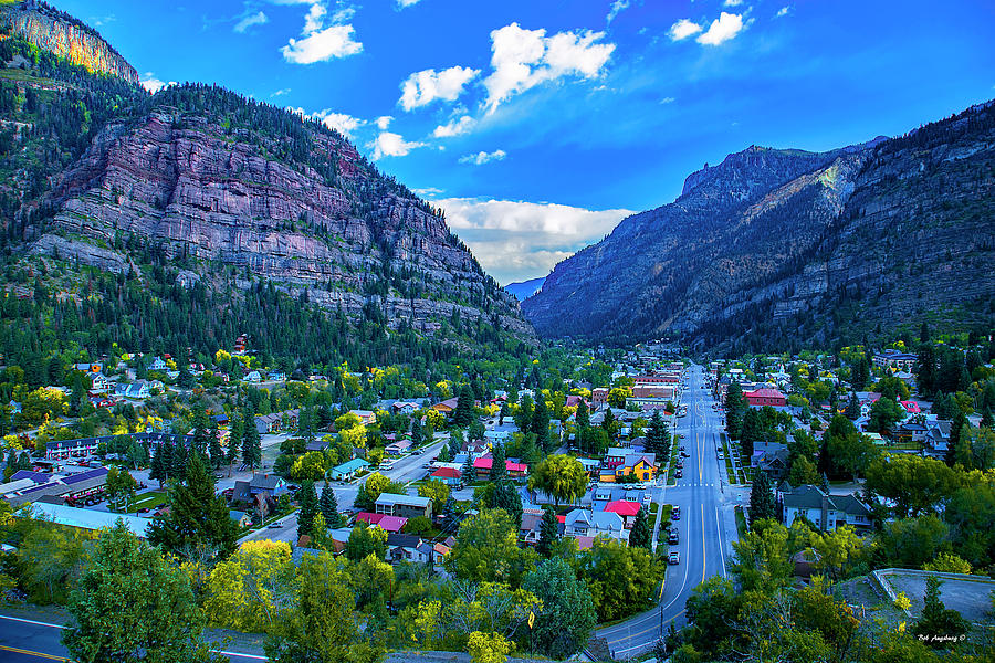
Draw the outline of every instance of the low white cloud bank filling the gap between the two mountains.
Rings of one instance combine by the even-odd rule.
[[[553,265],[600,240],[632,213],[474,198],[432,202],[446,210],[450,228],[499,283],[548,274]]]

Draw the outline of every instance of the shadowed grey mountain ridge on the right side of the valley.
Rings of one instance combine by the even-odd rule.
[[[995,104],[829,152],[750,147],[561,262],[523,303],[547,337],[704,347],[991,325]]]

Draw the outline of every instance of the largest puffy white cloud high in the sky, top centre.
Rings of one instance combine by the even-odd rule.
[[[596,43],[604,32],[589,30],[557,32],[523,30],[512,23],[491,32],[493,73],[483,84],[486,108],[493,112],[503,101],[546,81],[568,75],[594,78],[615,51],[612,43]]]

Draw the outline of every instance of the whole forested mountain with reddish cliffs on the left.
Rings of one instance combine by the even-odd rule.
[[[266,351],[383,362],[534,343],[517,302],[441,212],[344,136],[217,86],[149,95],[133,67],[93,74],[93,62],[74,65],[65,49],[29,41],[33,29],[10,28],[52,13],[18,4],[0,20],[8,291],[48,293],[70,316],[92,297],[117,302],[103,347],[165,338],[206,350],[250,332]],[[95,34],[59,21],[77,39]],[[143,319],[119,306],[129,297],[156,311]],[[289,311],[314,334],[282,329]],[[153,334],[156,312],[165,322]],[[201,327],[184,316],[202,316]]]

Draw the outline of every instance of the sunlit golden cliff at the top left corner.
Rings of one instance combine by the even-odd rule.
[[[0,8],[0,25],[39,49],[51,51],[93,73],[138,83],[138,72],[93,28],[44,2],[15,2]]]

